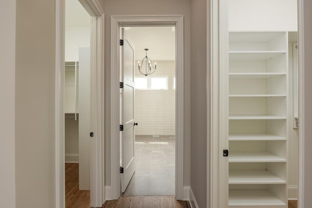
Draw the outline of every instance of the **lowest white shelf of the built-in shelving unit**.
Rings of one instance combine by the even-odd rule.
[[[286,204],[268,190],[229,190],[229,206],[230,208],[251,206],[256,208],[259,206],[286,208]]]

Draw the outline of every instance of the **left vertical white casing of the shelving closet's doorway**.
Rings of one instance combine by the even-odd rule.
[[[207,130],[208,148],[208,181],[210,193],[208,204],[212,208],[228,207],[228,157],[221,155],[228,149],[228,109],[219,108],[220,103],[227,103],[228,97],[228,0],[210,1],[210,66],[207,82],[210,93],[208,97]],[[219,27],[222,25],[222,27]],[[209,67],[208,67],[209,68]],[[222,69],[222,70],[220,70]],[[210,132],[209,132],[210,131]]]

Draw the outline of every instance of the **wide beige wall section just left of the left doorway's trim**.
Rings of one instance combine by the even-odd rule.
[[[55,4],[55,0],[17,0],[17,208],[56,205]]]

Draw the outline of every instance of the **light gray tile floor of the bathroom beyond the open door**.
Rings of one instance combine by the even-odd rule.
[[[136,172],[124,195],[175,195],[175,135],[136,135]]]

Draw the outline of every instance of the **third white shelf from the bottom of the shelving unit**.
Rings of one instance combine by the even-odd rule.
[[[286,159],[276,156],[267,151],[230,151],[230,163],[248,163],[248,162],[286,162]]]

